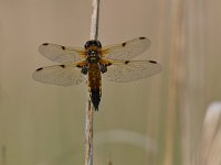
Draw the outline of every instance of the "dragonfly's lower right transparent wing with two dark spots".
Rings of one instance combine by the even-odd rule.
[[[154,61],[122,61],[107,67],[104,75],[106,80],[125,82],[149,77],[161,70],[161,66]]]

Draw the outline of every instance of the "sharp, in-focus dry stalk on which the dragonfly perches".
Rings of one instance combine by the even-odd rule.
[[[98,13],[99,0],[92,0],[92,24],[91,24],[91,40],[97,40],[98,36]],[[88,97],[86,103],[86,123],[85,123],[85,165],[93,165],[93,108]]]

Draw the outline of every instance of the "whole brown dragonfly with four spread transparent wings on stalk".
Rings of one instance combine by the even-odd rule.
[[[103,77],[109,81],[127,82],[161,70],[161,66],[155,61],[133,61],[149,46],[147,37],[104,47],[98,40],[87,41],[84,47],[43,43],[39,46],[39,52],[59,64],[40,67],[32,77],[40,82],[64,87],[87,81],[91,101],[98,111]]]

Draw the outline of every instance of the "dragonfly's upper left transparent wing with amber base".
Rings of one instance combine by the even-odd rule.
[[[51,43],[40,45],[39,52],[46,58],[59,63],[77,62],[85,58],[84,48],[67,47]]]

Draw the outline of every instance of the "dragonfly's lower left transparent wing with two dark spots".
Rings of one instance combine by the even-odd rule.
[[[38,68],[32,77],[36,81],[57,86],[78,85],[86,78],[86,76],[81,73],[81,68],[71,64]]]

